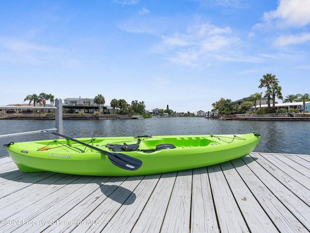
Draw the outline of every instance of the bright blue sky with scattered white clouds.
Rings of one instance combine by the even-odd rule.
[[[0,3],[0,105],[45,92],[210,111],[264,93],[266,73],[283,97],[310,93],[309,0]]]

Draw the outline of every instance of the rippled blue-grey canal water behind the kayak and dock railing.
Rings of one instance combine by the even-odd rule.
[[[0,120],[0,135],[55,128],[50,120]],[[254,152],[310,154],[309,121],[217,120],[203,117],[152,119],[63,120],[69,137],[239,134],[260,133]],[[2,146],[9,142],[54,139],[52,134],[31,134],[0,139],[0,157],[8,156]]]

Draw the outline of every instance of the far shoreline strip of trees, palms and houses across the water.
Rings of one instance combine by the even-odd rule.
[[[262,117],[308,117],[308,115],[298,115],[300,112],[302,113],[309,113],[309,101],[310,95],[309,93],[305,94],[296,94],[296,95],[287,95],[285,99],[282,96],[282,88],[279,86],[279,79],[276,78],[276,75],[272,75],[271,73],[266,73],[263,75],[263,78],[260,79],[260,85],[258,88],[265,87],[267,90],[265,91],[265,95],[263,96],[263,92],[251,94],[247,98],[243,98],[242,100],[232,101],[231,99],[224,99],[221,98],[220,100],[212,103],[213,109],[211,112],[207,112],[207,116],[204,115],[205,112],[199,116],[206,117],[206,118],[220,118],[220,119],[234,119],[236,118],[235,115],[247,115],[243,116],[243,119],[248,117],[253,117],[255,114],[258,118]],[[284,107],[276,109],[276,97],[279,100],[283,100],[283,103],[298,103],[298,105],[294,105],[293,107],[290,105],[285,105]],[[46,106],[47,100],[50,100],[50,106],[53,106],[55,98],[52,94],[40,93],[39,95],[32,94],[28,95],[24,102],[29,100],[29,106],[33,102],[33,106],[35,107],[36,104]],[[94,97],[94,99],[81,99],[79,98],[67,98],[64,99],[63,107],[63,119],[71,119],[71,118],[81,118],[81,119],[120,119],[120,118],[152,118],[152,117],[183,117],[183,116],[196,116],[194,113],[177,113],[169,108],[169,104],[167,104],[167,108],[164,109],[153,109],[151,112],[145,110],[145,103],[144,101],[133,100],[131,104],[129,104],[126,100],[117,100],[112,99],[110,102],[110,106],[105,106],[105,97],[102,94],[98,94]],[[93,101],[93,102],[92,102]],[[300,102],[300,103],[299,103]],[[306,103],[307,102],[307,103]],[[307,106],[306,106],[307,104]],[[97,106],[96,106],[97,105]],[[267,107],[263,106],[267,105]],[[272,105],[272,106],[271,106]],[[21,106],[21,105],[15,105]],[[10,106],[12,107],[12,105]],[[109,107],[109,109],[108,109]],[[52,119],[52,116],[37,116],[37,113],[42,113],[42,111],[35,112],[34,116],[4,116],[4,113],[14,114],[15,111],[6,110],[5,107],[3,108],[4,112],[0,111],[0,119],[11,119],[11,118],[29,118],[29,117],[37,117],[43,119]],[[3,110],[2,109],[2,110]],[[25,106],[25,109],[27,107]],[[1,110],[1,109],[0,109]],[[78,112],[79,111],[79,112]],[[33,113],[32,110],[23,110],[22,113]],[[44,112],[46,114],[46,112]],[[49,111],[48,114],[52,114],[52,111]],[[112,113],[112,114],[111,114]],[[146,114],[149,113],[149,114]],[[78,116],[70,115],[65,116],[66,114],[75,114]],[[103,115],[102,115],[103,114]],[[152,114],[152,115],[151,115]],[[156,114],[156,115],[154,115]],[[157,116],[159,114],[159,116]],[[264,116],[265,114],[272,114],[270,116]],[[286,116],[280,116],[281,114],[286,114]],[[108,116],[109,115],[109,116]],[[296,116],[297,115],[297,116]],[[17,118],[16,118],[17,117]],[[240,118],[242,116],[238,116]]]

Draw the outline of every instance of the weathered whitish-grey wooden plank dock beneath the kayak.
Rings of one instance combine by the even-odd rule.
[[[251,153],[139,177],[20,172],[0,159],[0,232],[310,232],[310,155]]]

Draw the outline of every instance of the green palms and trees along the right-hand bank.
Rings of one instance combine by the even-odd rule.
[[[220,100],[216,101],[215,103],[212,103],[213,110],[212,111],[220,111],[221,114],[244,114],[248,112],[248,110],[258,105],[257,101],[259,100],[259,105],[261,109],[261,99],[262,97],[267,98],[268,107],[267,109],[263,109],[264,113],[273,113],[276,110],[275,104],[276,104],[276,97],[279,100],[283,100],[282,97],[282,87],[279,85],[279,79],[276,78],[276,75],[272,75],[271,73],[267,73],[263,75],[263,78],[260,79],[260,85],[258,88],[267,88],[265,91],[265,94],[263,96],[263,92],[256,92],[255,94],[250,95],[248,98],[244,98],[244,101],[239,105],[233,105],[232,100],[230,99],[224,99],[221,98]],[[272,100],[272,107],[270,106],[270,102]],[[305,101],[310,101],[310,96],[308,93],[305,94],[293,94],[288,95],[283,100],[283,103],[288,102],[303,102],[305,109]]]

